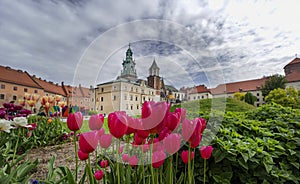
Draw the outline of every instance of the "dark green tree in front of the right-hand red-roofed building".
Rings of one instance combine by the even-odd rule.
[[[275,74],[272,75],[265,84],[261,87],[263,96],[267,96],[273,89],[285,89],[286,79],[283,75]]]

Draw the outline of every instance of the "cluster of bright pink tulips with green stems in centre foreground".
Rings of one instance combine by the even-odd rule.
[[[83,177],[88,177],[90,183],[102,178],[103,183],[117,184],[194,183],[193,158],[206,128],[205,119],[190,120],[185,109],[170,112],[169,103],[151,101],[143,104],[141,118],[130,117],[123,111],[110,113],[108,134],[102,129],[102,114],[92,115],[88,123],[90,131],[81,133],[78,142],[74,138],[74,148],[76,160],[77,156],[87,160]],[[70,114],[67,125],[75,135],[80,131],[82,115]],[[181,152],[183,145],[188,149]],[[91,163],[91,155],[95,155],[97,164]],[[187,164],[186,172],[180,177],[177,176],[179,155]],[[77,170],[76,161],[74,181],[84,181],[77,178]]]

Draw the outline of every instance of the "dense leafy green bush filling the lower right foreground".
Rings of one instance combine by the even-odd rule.
[[[210,132],[205,130],[205,136]],[[267,104],[227,112],[208,160],[209,183],[300,183],[300,112]],[[195,156],[195,183],[203,160]]]

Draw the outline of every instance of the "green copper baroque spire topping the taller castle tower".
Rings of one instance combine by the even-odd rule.
[[[128,49],[126,51],[126,58],[123,59],[123,69],[121,70],[121,75],[118,78],[123,78],[127,80],[137,80],[136,69],[135,69],[135,61],[132,58],[132,50],[130,48],[130,44],[128,45]]]

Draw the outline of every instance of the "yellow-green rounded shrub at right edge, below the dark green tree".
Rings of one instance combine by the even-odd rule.
[[[288,87],[286,89],[274,89],[265,100],[267,103],[275,102],[284,107],[300,108],[300,96],[299,92],[294,87]]]

